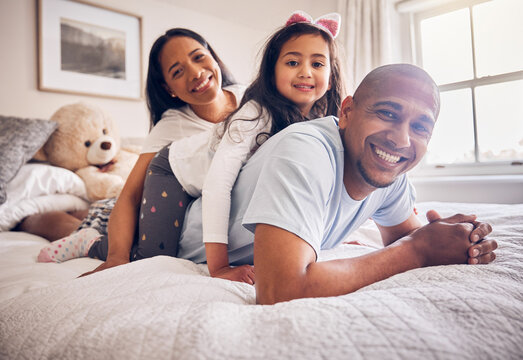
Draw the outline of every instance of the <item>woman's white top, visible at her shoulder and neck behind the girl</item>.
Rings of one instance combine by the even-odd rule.
[[[244,85],[230,85],[223,89],[234,95],[237,104],[240,103],[245,92]],[[206,133],[206,136],[209,136],[209,132],[215,126],[216,124],[196,115],[189,105],[166,110],[160,121],[156,123],[145,138],[141,153],[156,153],[173,141],[179,141],[196,134]]]

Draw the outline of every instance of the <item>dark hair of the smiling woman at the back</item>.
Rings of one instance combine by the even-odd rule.
[[[209,50],[214,60],[218,63],[222,73],[222,87],[235,84],[236,81],[232,76],[231,72],[227,69],[224,63],[220,60],[218,55],[214,52],[213,48],[207,43],[207,41],[195,33],[194,31],[174,28],[167,30],[165,34],[160,36],[154,42],[149,53],[149,67],[147,69],[147,81],[145,85],[145,95],[147,100],[147,107],[151,116],[151,127],[156,125],[162,118],[162,114],[168,109],[176,109],[184,106],[186,103],[180,100],[178,97],[171,97],[171,95],[165,89],[165,79],[163,78],[162,67],[160,65],[160,52],[162,51],[165,43],[174,37],[188,37],[198,41],[204,48]]]

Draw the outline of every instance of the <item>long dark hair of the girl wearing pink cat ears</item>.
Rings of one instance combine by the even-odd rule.
[[[226,127],[230,126],[230,121],[234,114],[248,101],[254,100],[269,113],[272,118],[272,127],[269,134],[272,136],[283,130],[290,124],[307,120],[300,112],[299,108],[290,100],[279,93],[276,88],[275,67],[276,61],[280,56],[283,45],[290,39],[301,35],[320,35],[329,46],[330,53],[330,85],[331,88],[325,95],[316,101],[311,109],[311,115],[323,117],[328,115],[338,116],[343,95],[343,84],[341,80],[341,70],[338,62],[338,49],[334,39],[324,30],[308,23],[296,23],[279,29],[266,43],[260,70],[254,82],[247,88],[236,111],[227,118]],[[238,120],[259,120],[261,113],[254,119]],[[260,137],[261,139],[261,137]]]

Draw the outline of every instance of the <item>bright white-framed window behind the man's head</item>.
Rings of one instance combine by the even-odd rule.
[[[523,173],[521,14],[521,0],[443,1],[412,13],[415,62],[441,91],[422,173]]]

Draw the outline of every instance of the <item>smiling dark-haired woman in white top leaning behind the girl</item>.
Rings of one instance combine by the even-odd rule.
[[[153,44],[146,84],[153,128],[111,211],[108,249],[99,249],[99,257],[105,262],[93,272],[129,262],[145,174],[152,158],[174,140],[212,131],[214,124],[235,110],[244,88],[233,82],[214,50],[193,31],[171,29]],[[105,201],[106,208],[97,211],[107,211],[113,202]],[[105,229],[97,230],[103,235]]]

